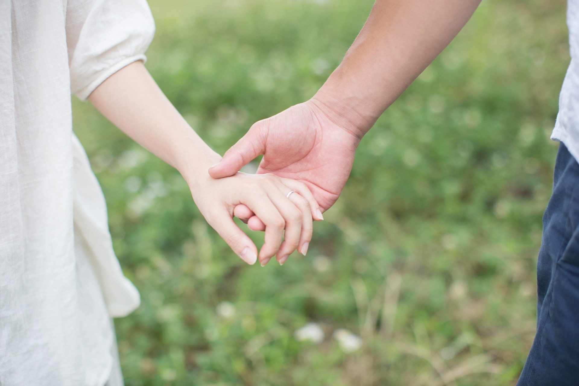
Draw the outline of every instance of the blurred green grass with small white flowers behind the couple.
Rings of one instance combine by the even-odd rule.
[[[223,153],[313,95],[372,0],[150,5],[146,65]],[[142,296],[116,320],[127,386],[514,385],[568,62],[563,0],[484,0],[362,140],[307,257],[283,267],[241,262],[175,170],[74,101]]]

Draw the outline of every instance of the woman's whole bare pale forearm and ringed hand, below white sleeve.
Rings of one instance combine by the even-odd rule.
[[[276,256],[283,264],[296,249],[306,254],[312,240],[312,219],[318,219],[320,211],[307,186],[274,174],[237,172],[230,178],[211,178],[207,169],[221,156],[177,112],[142,62],[110,76],[89,100],[129,137],[177,168],[201,214],[246,263],[259,259],[264,266]],[[295,193],[287,197],[291,190]],[[265,228],[259,253],[233,222],[234,210],[241,217],[255,214]]]

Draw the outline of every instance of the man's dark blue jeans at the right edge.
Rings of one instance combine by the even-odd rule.
[[[517,386],[579,385],[579,164],[555,161],[537,261],[537,334]]]

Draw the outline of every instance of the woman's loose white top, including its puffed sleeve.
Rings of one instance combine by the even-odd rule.
[[[145,0],[0,0],[0,384],[100,386],[109,317],[138,306],[107,211],[72,134],[85,99],[145,60]]]

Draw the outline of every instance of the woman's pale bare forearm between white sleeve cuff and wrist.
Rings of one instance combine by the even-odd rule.
[[[190,185],[221,159],[168,101],[141,61],[110,76],[89,101],[134,141],[177,168]]]

